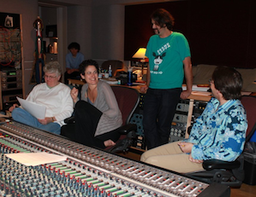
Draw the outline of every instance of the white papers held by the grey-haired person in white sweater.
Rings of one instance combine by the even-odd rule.
[[[26,101],[17,96],[17,100],[20,102],[21,107],[24,108],[28,113],[33,115],[37,119],[45,119],[46,107],[36,104],[31,101]]]

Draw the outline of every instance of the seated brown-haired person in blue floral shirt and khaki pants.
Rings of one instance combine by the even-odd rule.
[[[146,151],[141,161],[187,173],[203,171],[204,160],[233,161],[241,154],[247,131],[247,115],[240,101],[241,74],[232,67],[217,67],[210,85],[213,97],[189,138]]]

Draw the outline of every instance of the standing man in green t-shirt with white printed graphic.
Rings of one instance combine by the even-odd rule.
[[[144,100],[143,128],[148,149],[169,142],[170,126],[180,99],[192,91],[193,74],[188,40],[173,32],[174,18],[165,9],[152,14],[153,35],[146,46],[149,58]],[[182,91],[183,78],[187,90]]]

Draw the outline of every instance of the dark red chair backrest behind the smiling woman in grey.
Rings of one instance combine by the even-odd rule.
[[[129,119],[134,113],[140,101],[140,93],[138,90],[125,86],[111,86],[118,103],[118,107],[122,113],[122,125],[127,125]]]

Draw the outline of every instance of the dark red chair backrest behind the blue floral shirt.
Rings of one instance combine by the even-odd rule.
[[[248,129],[246,141],[248,141],[253,136],[254,130],[256,130],[256,97],[241,96],[241,104],[247,112]]]

